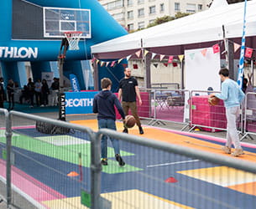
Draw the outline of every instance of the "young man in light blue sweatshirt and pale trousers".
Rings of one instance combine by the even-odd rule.
[[[219,75],[222,80],[222,92],[221,94],[211,94],[210,97],[215,95],[218,99],[222,99],[226,108],[227,142],[226,145],[222,147],[222,150],[230,154],[233,144],[235,150],[232,152],[232,156],[243,155],[243,149],[238,137],[237,119],[244,94],[242,89],[239,88],[238,83],[229,79],[228,69],[220,69]]]

